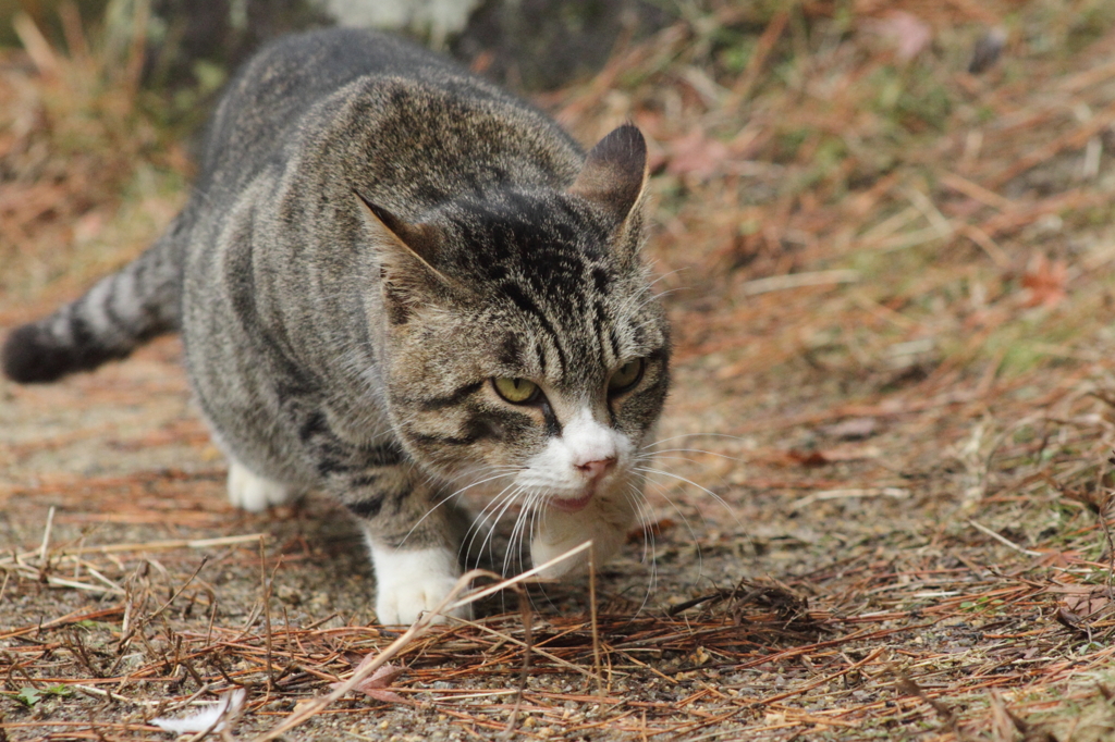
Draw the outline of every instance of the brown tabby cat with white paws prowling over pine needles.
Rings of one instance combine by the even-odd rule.
[[[536,565],[589,539],[599,564],[634,524],[670,355],[647,177],[633,125],[585,155],[409,42],[287,37],[230,82],[166,232],[11,332],[2,368],[52,381],[180,331],[231,501],[339,498],[379,622],[408,624],[462,574],[465,490],[489,520],[518,508]]]

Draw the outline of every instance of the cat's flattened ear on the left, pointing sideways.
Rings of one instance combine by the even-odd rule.
[[[363,205],[365,219],[375,233],[382,271],[382,286],[391,322],[401,324],[419,306],[444,296],[455,282],[434,267],[442,251],[437,227],[410,224],[352,191]]]

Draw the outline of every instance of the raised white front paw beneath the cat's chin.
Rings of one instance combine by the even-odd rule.
[[[537,567],[591,540],[591,555],[589,549],[584,549],[539,574],[555,578],[584,573],[589,568],[590,558],[599,569],[600,565],[623,546],[633,521],[634,504],[627,497],[615,501],[594,499],[578,512],[547,509],[539,519],[537,529],[531,539],[531,560]]]

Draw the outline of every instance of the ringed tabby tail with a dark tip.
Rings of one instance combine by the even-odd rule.
[[[20,383],[54,381],[124,358],[155,335],[177,330],[181,227],[180,216],[145,253],[84,296],[13,330],[0,351],[4,375]]]

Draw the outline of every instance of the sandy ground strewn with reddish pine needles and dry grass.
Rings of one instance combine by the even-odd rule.
[[[647,135],[675,329],[650,523],[591,582],[400,640],[336,504],[227,505],[175,338],[0,382],[0,740],[234,687],[245,740],[1115,738],[1115,12],[905,7],[692,7],[536,99]],[[70,31],[0,66],[4,329],[188,183]],[[401,672],[311,703],[366,657]]]

